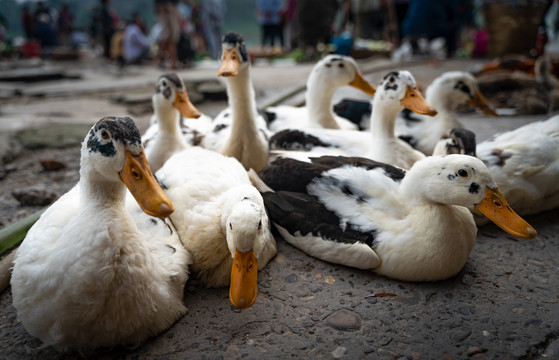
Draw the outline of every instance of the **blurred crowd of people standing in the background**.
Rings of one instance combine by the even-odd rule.
[[[68,4],[56,9],[47,1],[22,5],[26,54],[49,56],[55,47],[89,43],[122,65],[151,61],[173,69],[188,66],[196,55],[220,55],[225,0],[152,0],[156,23],[151,27],[138,11],[121,18],[111,0],[98,1],[83,31],[75,31]],[[325,52],[348,55],[356,44],[377,42],[390,44],[397,59],[425,52],[441,58],[484,56],[488,33],[482,8],[490,2],[499,1],[254,0],[260,32],[254,52],[314,61]],[[556,0],[539,2],[559,8]],[[0,14],[0,43],[8,26]]]

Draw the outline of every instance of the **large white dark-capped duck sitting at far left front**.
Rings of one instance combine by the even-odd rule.
[[[144,217],[129,213],[128,191]],[[81,146],[79,184],[41,215],[15,255],[13,306],[27,332],[87,356],[168,329],[186,313],[191,262],[164,221],[173,210],[134,121],[96,122]]]

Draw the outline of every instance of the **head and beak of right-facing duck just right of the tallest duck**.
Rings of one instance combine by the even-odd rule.
[[[320,60],[311,71],[307,86],[339,88],[353,86],[373,96],[375,88],[363,78],[353,58],[342,55],[328,55]]]

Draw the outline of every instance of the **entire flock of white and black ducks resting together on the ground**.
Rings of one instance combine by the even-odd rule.
[[[190,274],[250,307],[277,253],[272,227],[327,262],[438,281],[463,268],[478,225],[534,238],[520,215],[559,205],[559,117],[476,145],[456,106],[496,113],[468,73],[443,74],[424,98],[408,71],[375,89],[352,58],[329,55],[306,106],[260,114],[242,38],[222,45],[229,107],[201,114],[181,78],[162,75],[146,133],[128,117],[94,124],[78,184],[17,250],[13,305],[46,346],[138,346],[186,313]],[[345,85],[374,95],[369,129],[334,113]]]

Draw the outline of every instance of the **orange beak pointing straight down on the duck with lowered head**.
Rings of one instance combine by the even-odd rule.
[[[257,276],[258,263],[254,250],[250,249],[245,253],[235,250],[229,287],[229,300],[233,306],[246,309],[254,304]]]

